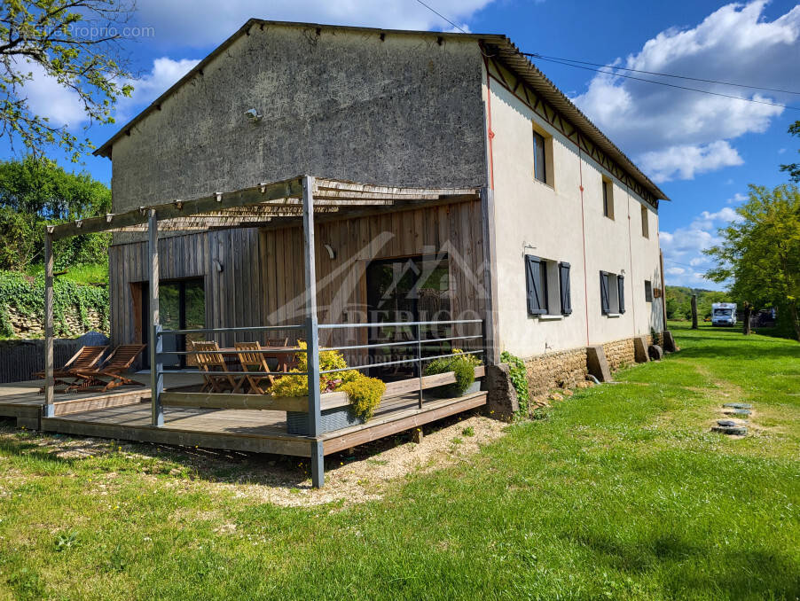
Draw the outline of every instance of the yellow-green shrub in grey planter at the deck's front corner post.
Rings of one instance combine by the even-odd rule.
[[[305,342],[298,346],[305,348]],[[307,371],[308,360],[305,353],[295,355],[297,367],[292,371]],[[341,370],[347,367],[344,357],[338,351],[323,351],[319,354],[319,371]],[[270,388],[273,396],[308,396],[308,376],[282,376]],[[349,425],[365,424],[373,417],[386,392],[386,384],[380,379],[369,378],[360,371],[346,370],[324,373],[319,376],[319,392],[322,394],[341,391],[348,395],[349,405],[322,411],[320,433],[340,430]],[[290,434],[309,433],[309,414],[302,411],[286,411],[286,427]]]

